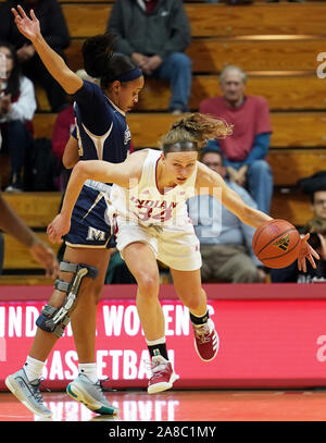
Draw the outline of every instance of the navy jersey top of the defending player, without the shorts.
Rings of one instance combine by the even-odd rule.
[[[130,149],[125,113],[91,82],[84,81],[73,99],[80,160],[123,162]]]

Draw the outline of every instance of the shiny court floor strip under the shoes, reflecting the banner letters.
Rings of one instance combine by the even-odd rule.
[[[109,401],[120,408],[112,418],[97,416],[64,392],[43,393],[51,421],[323,421],[326,390],[302,391],[114,391]],[[39,421],[8,393],[0,393],[0,421]],[[49,419],[47,419],[49,420]]]

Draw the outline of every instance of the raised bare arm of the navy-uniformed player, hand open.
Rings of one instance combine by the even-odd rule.
[[[21,5],[17,5],[17,10],[12,8],[11,11],[14,14],[15,24],[20,33],[32,41],[52,77],[55,78],[70,95],[75,94],[83,86],[82,78],[71,71],[64,60],[47,44],[40,33],[39,21],[37,20],[34,10],[30,10],[30,19],[26,15]]]

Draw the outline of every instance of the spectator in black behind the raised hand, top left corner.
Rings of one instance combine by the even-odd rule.
[[[64,59],[63,51],[70,45],[70,34],[61,5],[58,0],[5,0],[0,5],[0,38],[14,46],[24,75],[45,88],[52,112],[59,112],[66,106],[66,94],[48,73],[30,41],[18,33],[11,12],[11,8],[17,4],[28,13],[34,9],[46,41]]]

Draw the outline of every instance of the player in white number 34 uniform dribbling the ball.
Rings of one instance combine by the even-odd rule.
[[[110,196],[111,219],[117,248],[138,284],[137,309],[152,359],[149,393],[167,390],[176,380],[166,352],[156,260],[170,267],[177,295],[189,308],[199,357],[210,361],[218,350],[218,336],[201,286],[199,241],[187,214],[187,198],[205,189],[255,229],[272,220],[248,207],[217,173],[197,160],[198,149],[208,137],[230,133],[225,122],[196,113],[173,124],[163,137],[162,150],[135,152],[121,164],[77,163],[61,213],[48,226],[50,239],[60,242],[70,229],[72,209],[87,179],[115,184]],[[318,258],[308,237],[301,238],[298,258],[303,270],[305,259],[315,267],[313,256]]]

